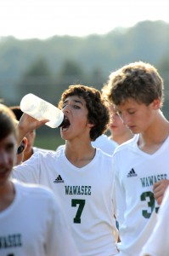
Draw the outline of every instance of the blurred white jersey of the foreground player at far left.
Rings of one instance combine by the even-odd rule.
[[[15,181],[14,188],[14,201],[0,212],[0,255],[79,255],[54,194]]]

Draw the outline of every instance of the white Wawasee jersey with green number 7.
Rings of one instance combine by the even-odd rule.
[[[55,154],[36,153],[16,166],[13,176],[54,190],[82,256],[117,253],[113,236],[113,230],[116,231],[112,201],[114,172],[110,155],[97,149],[87,166],[77,168],[66,159],[64,148]]]

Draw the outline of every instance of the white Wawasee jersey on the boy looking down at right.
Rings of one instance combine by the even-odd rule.
[[[169,137],[154,154],[138,148],[138,135],[115,149],[115,195],[120,255],[137,256],[156,223],[153,184],[169,178]]]

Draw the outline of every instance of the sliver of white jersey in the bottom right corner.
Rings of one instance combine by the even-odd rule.
[[[165,197],[162,201],[158,217],[157,224],[153,230],[152,235],[145,244],[141,253],[151,256],[168,256],[169,254],[169,188],[166,189]]]

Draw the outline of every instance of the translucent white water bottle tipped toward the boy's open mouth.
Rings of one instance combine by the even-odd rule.
[[[21,99],[20,109],[38,121],[49,119],[45,125],[51,128],[61,126],[64,121],[64,113],[59,108],[32,93],[26,94]]]

